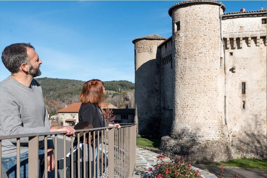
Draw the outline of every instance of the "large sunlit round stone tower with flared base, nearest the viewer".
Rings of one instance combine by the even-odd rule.
[[[218,1],[183,1],[169,9],[174,43],[174,108],[171,135],[161,148],[196,162],[232,158],[224,114]],[[220,150],[220,151],[219,151]]]

